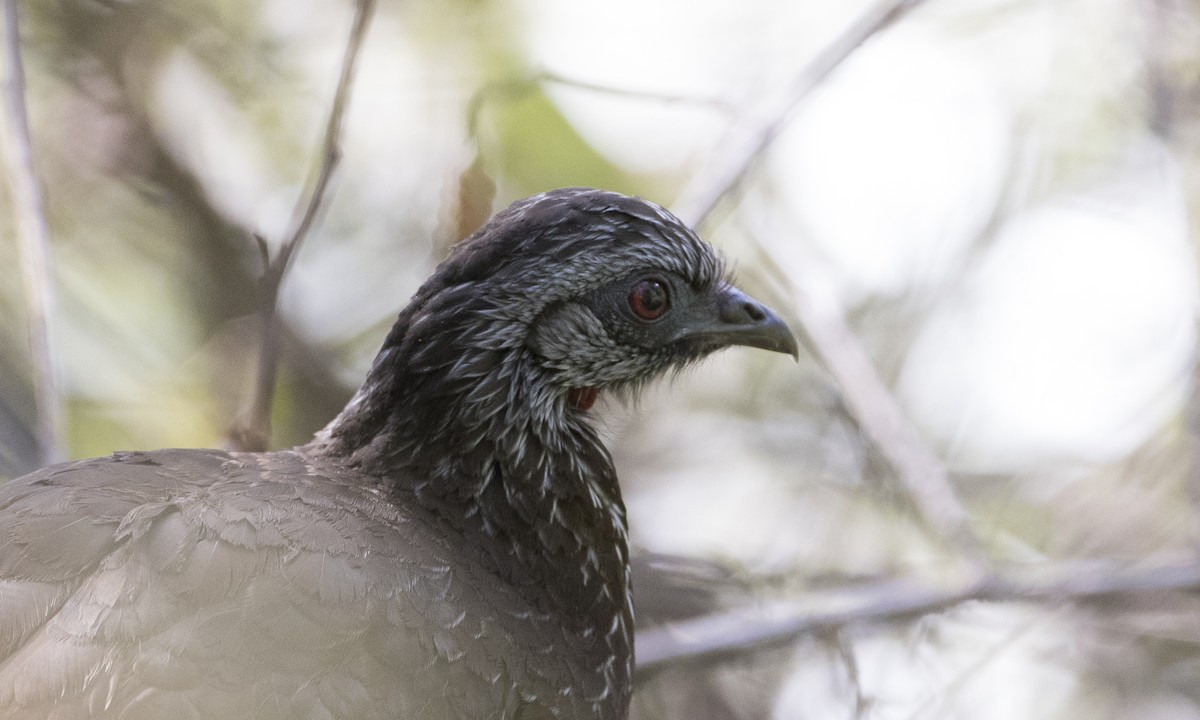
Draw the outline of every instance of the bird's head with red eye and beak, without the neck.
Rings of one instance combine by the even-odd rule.
[[[498,320],[491,331],[523,346],[530,367],[577,408],[598,390],[638,385],[722,347],[797,353],[784,322],[730,284],[708,244],[662,208],[612,192],[515,203],[437,277],[473,283],[484,314]]]

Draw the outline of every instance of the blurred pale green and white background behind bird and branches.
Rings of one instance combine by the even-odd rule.
[[[17,5],[66,455],[222,445],[253,389],[254,235],[278,251],[319,161],[353,2]],[[642,626],[846,614],[668,654],[635,715],[1198,719],[1200,595],[1153,570],[1196,558],[1200,6],[895,7],[802,92],[875,4],[383,0],[282,288],[271,445],[332,418],[490,211],[589,185],[695,221],[730,190],[698,229],[811,352],[726,352],[600,409],[632,540],[661,553]],[[41,462],[17,150],[0,479]],[[839,360],[859,352],[865,379]],[[965,524],[914,499],[930,473]],[[889,582],[953,595],[980,566],[1067,589],[878,611]],[[1130,571],[1129,592],[1072,586]]]

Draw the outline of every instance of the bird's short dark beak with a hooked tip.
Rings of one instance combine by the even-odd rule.
[[[689,308],[690,317],[676,331],[674,341],[709,347],[746,346],[786,353],[799,360],[799,346],[787,324],[773,310],[733,286],[714,289]]]

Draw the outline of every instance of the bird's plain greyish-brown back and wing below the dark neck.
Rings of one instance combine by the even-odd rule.
[[[384,494],[293,451],[0,487],[0,716],[592,716],[606,689],[554,649],[595,638]]]

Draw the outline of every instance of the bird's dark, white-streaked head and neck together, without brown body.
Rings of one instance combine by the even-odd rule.
[[[625,512],[587,410],[598,392],[734,344],[797,353],[782,320],[666,210],[553,191],[454,250],[307,451],[366,470],[406,512],[452,528],[473,562],[586,638],[605,678],[596,697],[614,691],[624,706]]]

